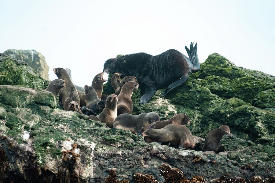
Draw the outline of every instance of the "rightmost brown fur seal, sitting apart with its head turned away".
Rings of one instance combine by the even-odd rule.
[[[230,133],[230,128],[227,125],[222,125],[219,128],[211,130],[205,137],[204,151],[219,152],[221,145],[220,141],[225,134],[232,135],[232,133]]]

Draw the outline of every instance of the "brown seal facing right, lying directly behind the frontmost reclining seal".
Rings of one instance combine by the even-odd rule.
[[[190,123],[190,118],[184,114],[184,113],[180,113],[180,114],[176,114],[173,117],[171,117],[168,120],[163,120],[163,121],[156,121],[154,123],[151,123],[147,129],[150,128],[155,128],[155,129],[160,129],[165,127],[168,124],[189,124]]]

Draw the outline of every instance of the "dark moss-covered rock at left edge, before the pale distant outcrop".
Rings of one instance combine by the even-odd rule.
[[[37,75],[26,62],[13,60],[0,53],[0,85],[45,89],[48,84],[49,81]]]

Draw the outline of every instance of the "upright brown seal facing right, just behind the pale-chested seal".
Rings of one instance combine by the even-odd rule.
[[[121,88],[120,94],[117,97],[117,115],[120,114],[132,114],[133,112],[133,102],[132,95],[133,91],[138,89],[138,83],[134,81],[129,81],[123,85]]]

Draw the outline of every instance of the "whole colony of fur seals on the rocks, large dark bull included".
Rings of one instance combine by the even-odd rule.
[[[160,55],[152,56],[146,53],[135,53],[108,59],[103,71],[115,73],[111,79],[114,94],[103,94],[104,73],[97,74],[91,86],[85,85],[85,92],[75,89],[69,74],[63,68],[53,69],[59,79],[53,80],[45,89],[56,97],[59,95],[64,110],[72,110],[89,116],[89,119],[105,123],[108,127],[130,130],[135,135],[142,135],[145,142],[170,143],[175,148],[192,149],[194,139],[189,129],[184,126],[190,123],[190,118],[184,113],[178,113],[170,119],[160,121],[157,113],[141,113],[132,115],[134,90],[141,88],[145,93],[140,103],[148,102],[156,89],[167,87],[163,95],[184,84],[188,74],[200,69],[197,56],[197,44],[185,46],[189,58],[177,50],[171,49]],[[120,78],[118,72],[128,74]],[[138,80],[137,80],[138,78]],[[100,100],[104,96],[106,100]],[[206,138],[204,151],[219,152],[220,140],[229,134],[230,128],[222,125],[211,130]]]

